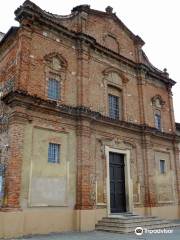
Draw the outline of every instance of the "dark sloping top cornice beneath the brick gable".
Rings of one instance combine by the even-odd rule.
[[[96,10],[91,10],[91,11],[96,11]],[[38,22],[40,24],[43,24],[44,26],[48,26],[51,29],[56,30],[57,32],[61,32],[61,34],[65,35],[68,38],[71,38],[75,41],[84,42],[88,44],[92,49],[95,49],[96,51],[99,51],[102,54],[105,54],[111,58],[114,58],[125,65],[129,65],[134,69],[145,71],[149,76],[157,80],[160,80],[167,85],[173,86],[175,84],[175,81],[163,75],[163,73],[161,73],[160,71],[157,71],[155,68],[149,67],[148,65],[145,65],[143,63],[135,63],[132,60],[127,59],[126,57],[112,51],[111,49],[108,49],[102,46],[101,44],[97,43],[95,38],[85,33],[69,30],[68,28],[64,27],[60,23],[58,17],[55,17],[55,15],[43,11],[41,8],[39,8],[29,0],[25,1],[25,3],[15,11],[15,15],[16,15],[16,20],[18,20],[22,25],[23,25],[24,19],[29,20],[28,24],[33,24],[35,22]],[[117,17],[114,14],[113,14],[113,17],[116,18],[117,20]],[[137,36],[135,35],[134,37],[137,38]]]

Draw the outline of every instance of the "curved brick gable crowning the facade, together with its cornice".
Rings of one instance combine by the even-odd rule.
[[[57,15],[42,10],[33,2],[26,0],[15,11],[15,15],[16,20],[21,25],[23,25],[23,22],[26,22],[26,26],[30,27],[31,24],[36,25],[39,21],[42,29],[43,26],[49,27],[54,32],[58,29],[58,32],[70,39],[74,39],[75,42],[82,41],[83,43],[88,43],[93,50],[101,51],[105,55],[108,51],[112,58],[117,59],[118,57],[122,64],[129,64],[133,69],[134,67],[137,69],[145,68],[148,71],[148,75],[153,76],[155,80],[160,80],[170,86],[175,84],[175,81],[169,78],[166,71],[160,71],[150,63],[141,49],[144,41],[130,31],[110,6],[105,11],[99,11],[91,9],[89,5],[80,5],[74,7],[69,15]],[[91,23],[95,23],[98,31],[95,31],[95,26]],[[8,32],[7,36],[14,34],[15,30]],[[79,31],[82,31],[83,34],[76,33]],[[118,45],[119,52],[117,51]],[[138,62],[135,56],[135,49],[140,53]]]

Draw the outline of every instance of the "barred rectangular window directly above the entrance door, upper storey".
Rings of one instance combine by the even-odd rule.
[[[119,119],[119,97],[109,94],[109,117]]]

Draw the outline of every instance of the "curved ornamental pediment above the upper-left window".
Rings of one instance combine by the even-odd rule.
[[[55,71],[67,68],[67,61],[59,53],[53,52],[44,57],[48,67]]]

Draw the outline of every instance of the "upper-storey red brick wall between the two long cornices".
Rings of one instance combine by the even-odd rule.
[[[62,39],[59,43],[52,39],[54,35],[51,32],[47,31],[47,34],[47,37],[43,36],[43,29],[35,29],[33,32],[28,29],[21,30],[18,41],[19,55],[17,55],[17,50],[14,48],[13,52],[9,52],[8,57],[6,57],[15,59],[16,65],[18,65],[12,67],[8,73],[2,74],[1,81],[15,75],[16,79],[18,77],[16,85],[19,89],[26,90],[31,95],[47,98],[47,76],[44,57],[49,53],[57,52],[64,56],[68,63],[64,81],[64,92],[68,92],[68,95],[64,94],[63,102],[69,105],[84,105],[107,114],[105,110],[107,104],[105,88],[107,86],[103,82],[103,71],[108,67],[124,71],[124,67],[119,68],[118,61],[107,58],[102,54],[97,55],[85,45],[77,45],[77,43],[67,39],[66,42],[64,42],[65,39]],[[19,62],[17,61],[18,58],[20,58]],[[1,61],[2,69],[3,66],[5,68],[9,64],[9,61],[12,61],[10,59]],[[125,76],[128,82],[123,88],[124,103],[126,103],[124,104],[124,119],[126,121],[131,119],[133,122],[140,123],[140,115],[142,115],[140,106],[143,104],[144,121],[149,126],[154,127],[151,98],[160,95],[165,101],[162,111],[163,130],[173,132],[175,128],[174,114],[173,110],[170,110],[172,109],[172,102],[169,101],[169,93],[165,85],[156,83],[154,79],[146,80],[145,76],[142,76],[143,85],[140,94],[140,92],[138,93],[139,80],[136,72],[128,69]],[[142,94],[144,97],[141,96]],[[134,102],[139,103],[133,106]]]

